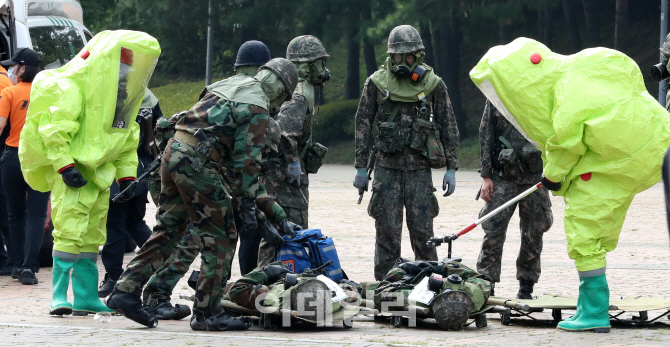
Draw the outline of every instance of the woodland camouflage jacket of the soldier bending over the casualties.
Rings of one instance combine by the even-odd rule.
[[[265,147],[268,128],[267,110],[208,93],[175,128],[190,134],[202,128],[216,139],[215,148],[224,162],[232,162],[232,169],[242,177],[238,191],[231,192],[231,195],[256,198],[261,150]]]

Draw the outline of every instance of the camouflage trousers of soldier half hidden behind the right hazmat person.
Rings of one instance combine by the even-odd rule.
[[[493,195],[479,212],[479,217],[495,210],[500,205],[530,188],[532,185],[516,184],[494,174]],[[519,205],[521,219],[521,249],[516,260],[516,279],[537,283],[540,278],[540,254],[543,234],[554,222],[551,213],[549,191],[541,188],[526,196],[517,204],[503,210],[482,224],[484,241],[477,260],[477,271],[488,275],[493,282],[500,282],[500,261],[509,221]]]

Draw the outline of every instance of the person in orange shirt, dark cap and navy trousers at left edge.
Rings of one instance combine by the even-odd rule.
[[[0,62],[10,66],[8,77],[16,82],[0,93],[0,133],[7,123],[10,125],[0,167],[7,199],[9,252],[16,264],[12,277],[23,284],[38,283],[35,273],[40,269],[39,254],[49,201],[49,193],[38,192],[26,183],[19,162],[19,138],[30,104],[30,88],[35,75],[40,72],[39,62],[39,55],[30,48],[21,48],[12,59]]]

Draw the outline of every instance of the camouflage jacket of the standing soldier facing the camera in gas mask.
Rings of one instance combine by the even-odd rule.
[[[374,125],[379,127],[386,122],[392,113],[393,107],[383,107],[382,100],[386,95],[382,93],[377,86],[370,80],[365,81],[361,101],[356,111],[356,168],[365,168],[368,165],[368,157],[371,146],[378,148],[378,141],[371,141],[372,128]],[[410,134],[412,125],[416,118],[429,120],[433,114],[433,122],[440,133],[438,139],[442,143],[444,153],[447,159],[447,169],[458,169],[458,126],[456,117],[451,107],[451,100],[447,93],[447,87],[442,81],[435,87],[433,92],[426,96],[432,106],[428,106],[428,112],[420,115],[419,107],[421,102],[398,103],[400,109],[394,122],[399,124],[403,136]],[[387,101],[391,103],[390,100]],[[377,151],[376,165],[396,170],[420,170],[428,168],[427,159],[417,150],[409,148],[405,138],[405,143],[399,144],[402,148],[397,153],[385,153]]]

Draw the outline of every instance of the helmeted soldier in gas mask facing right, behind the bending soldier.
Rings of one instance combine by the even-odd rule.
[[[308,228],[309,178],[318,165],[306,162],[322,147],[312,142],[314,123],[314,86],[330,79],[326,61],[330,56],[318,38],[298,36],[289,42],[286,58],[298,69],[298,86],[293,98],[285,102],[276,119],[281,127],[279,151],[270,151],[268,171],[261,178],[270,196],[286,211],[288,220]],[[325,155],[325,152],[321,152]],[[321,158],[323,158],[321,156]],[[274,247],[261,241],[258,266],[275,260]]]

